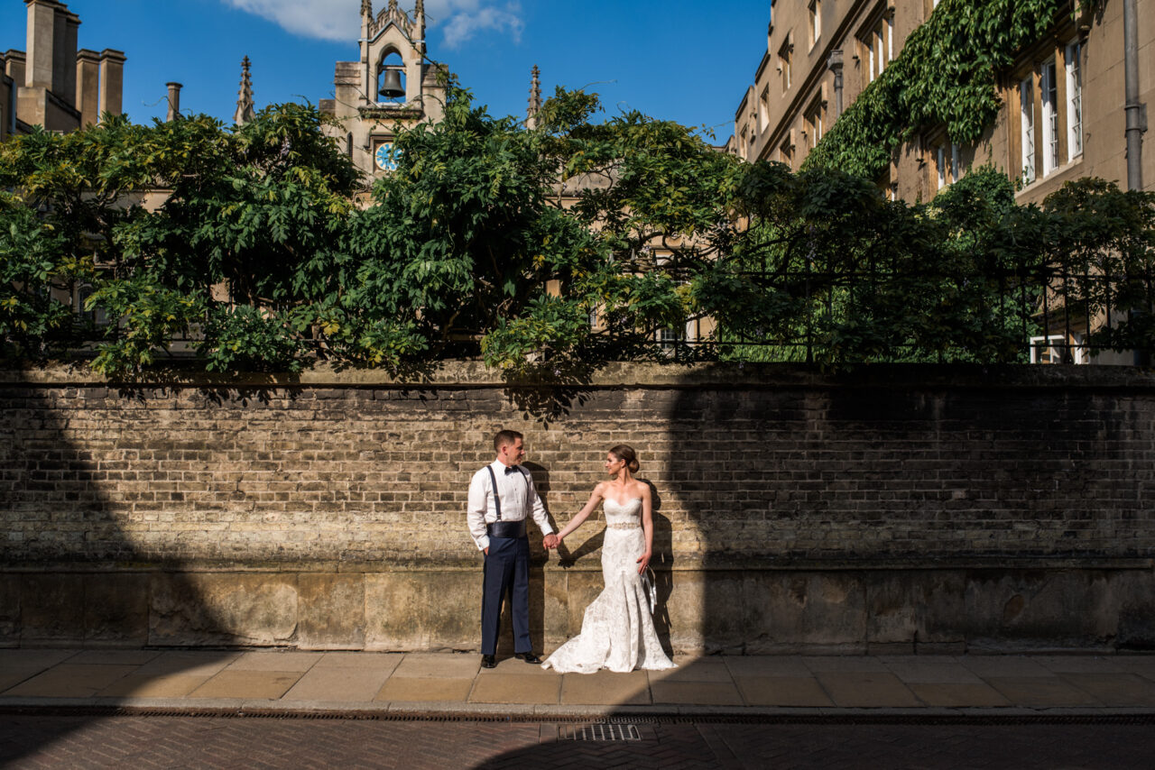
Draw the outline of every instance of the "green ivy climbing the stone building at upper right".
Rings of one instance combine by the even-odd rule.
[[[1081,1],[1079,12],[1098,1]],[[945,125],[952,142],[976,141],[998,115],[998,73],[1071,8],[1071,0],[942,0],[803,167],[877,179],[894,149],[922,128]]]

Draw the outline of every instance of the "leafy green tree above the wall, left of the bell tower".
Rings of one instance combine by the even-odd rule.
[[[107,266],[81,263],[89,307],[117,320],[97,369],[137,371],[181,337],[209,368],[297,368],[316,350],[357,174],[315,109],[269,107],[232,132],[203,115],[152,127],[106,115],[0,152],[0,184],[46,208],[58,253]]]

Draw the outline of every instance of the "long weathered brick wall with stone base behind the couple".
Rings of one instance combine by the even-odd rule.
[[[556,393],[467,364],[3,373],[0,643],[471,649],[465,488],[500,427],[559,524],[639,451],[677,649],[1155,643],[1155,376],[621,366]],[[598,529],[537,555],[547,643],[596,595]]]

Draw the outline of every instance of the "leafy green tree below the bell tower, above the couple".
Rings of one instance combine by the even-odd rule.
[[[677,124],[598,110],[559,89],[526,129],[450,85],[445,120],[398,136],[397,173],[353,223],[378,300],[360,307],[434,356],[479,345],[523,374],[653,354],[695,312],[686,284],[731,227],[740,166]]]

